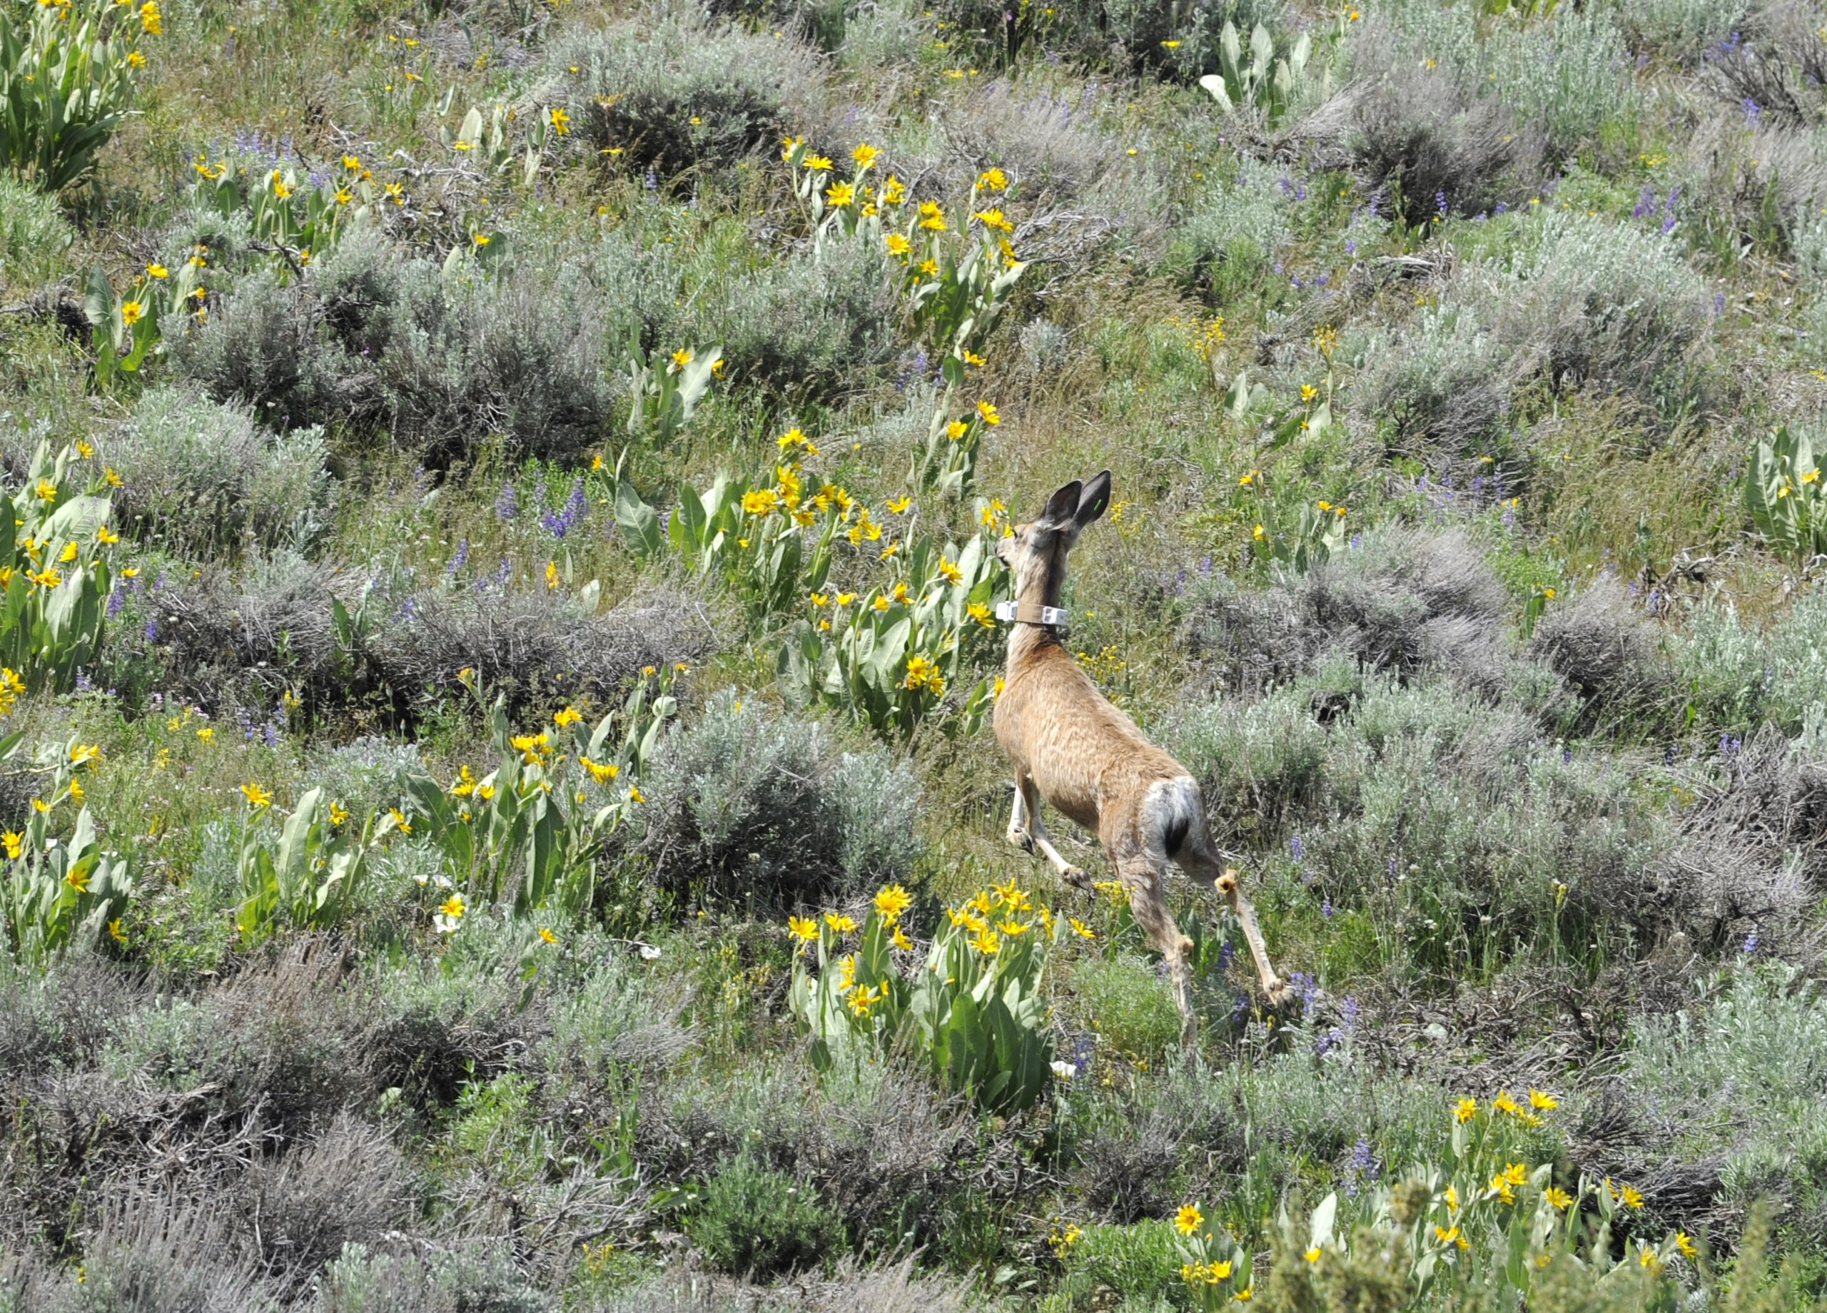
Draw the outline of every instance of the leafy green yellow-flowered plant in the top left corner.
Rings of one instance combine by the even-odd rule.
[[[159,0],[15,2],[0,13],[0,168],[62,192],[80,183],[133,99],[163,29]]]

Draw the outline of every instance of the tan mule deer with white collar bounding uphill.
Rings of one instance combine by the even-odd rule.
[[[1019,524],[998,548],[1014,573],[1014,603],[998,608],[1012,619],[1009,670],[996,699],[996,741],[1016,767],[1009,842],[1036,847],[1061,878],[1089,889],[1085,873],[1060,856],[1040,818],[1041,798],[1098,835],[1116,878],[1129,895],[1136,924],[1167,959],[1173,1001],[1188,1037],[1193,1034],[1193,940],[1173,924],[1166,900],[1167,864],[1211,884],[1231,904],[1250,942],[1264,993],[1279,1004],[1286,986],[1268,962],[1255,909],[1224,867],[1199,783],[1186,767],[1155,747],[1116,710],[1061,643],[1065,555],[1080,531],[1111,504],[1111,471],[1089,484],[1076,478],[1047,499],[1032,524]]]

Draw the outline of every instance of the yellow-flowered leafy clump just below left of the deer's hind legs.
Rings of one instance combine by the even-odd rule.
[[[901,886],[888,886],[861,931],[835,913],[789,922],[802,951],[787,1001],[813,1035],[813,1063],[829,1068],[846,1052],[906,1050],[985,1110],[1032,1107],[1052,1076],[1040,979],[1047,950],[1072,931],[1010,880],[948,908],[914,968],[914,940],[901,926],[910,904]],[[839,955],[846,940],[855,948]]]

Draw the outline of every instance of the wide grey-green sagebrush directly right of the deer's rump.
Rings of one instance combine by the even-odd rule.
[[[1220,844],[1275,856],[1297,897],[1398,928],[1381,951],[1409,970],[1712,924],[1661,807],[1533,716],[1323,667],[1261,701],[1215,701],[1175,738]]]

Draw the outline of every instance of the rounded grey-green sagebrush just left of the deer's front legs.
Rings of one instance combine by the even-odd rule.
[[[661,886],[795,906],[859,895],[914,860],[919,793],[886,749],[720,694],[652,765],[639,851]]]

